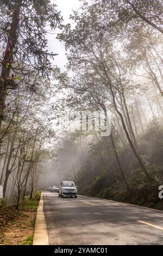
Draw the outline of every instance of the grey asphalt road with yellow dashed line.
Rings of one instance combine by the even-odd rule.
[[[163,211],[43,192],[50,245],[163,245]]]

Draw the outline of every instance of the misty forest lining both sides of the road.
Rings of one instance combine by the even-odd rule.
[[[82,0],[70,23],[55,1],[0,0],[0,11],[0,206],[19,209],[53,176],[83,195],[163,210],[162,1]],[[110,136],[71,132],[56,123],[66,111],[109,112]]]

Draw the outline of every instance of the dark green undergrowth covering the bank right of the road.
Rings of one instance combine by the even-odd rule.
[[[81,191],[83,195],[87,196],[107,198],[119,202],[126,202],[163,210],[161,199],[158,197],[158,188],[162,185],[163,180],[163,163],[159,154],[159,151],[161,151],[162,148],[161,143],[163,141],[162,131],[162,125],[155,120],[152,121],[149,123],[145,134],[141,137],[141,144],[139,144],[139,150],[141,151],[143,161],[145,162],[149,173],[152,175],[152,182],[147,182],[145,174],[141,172],[140,167],[135,164],[135,161],[133,161],[131,157],[128,158],[127,150],[124,148],[121,151],[120,157],[122,155],[124,159],[124,156],[126,156],[124,159],[124,167],[130,166],[130,170],[127,172],[130,190],[127,191],[125,184],[121,180],[121,176],[118,175],[118,169],[116,169],[116,166],[112,169],[110,167],[103,167],[103,160],[98,159],[97,162],[94,162],[93,166],[93,168],[98,166],[98,175],[95,174],[95,176],[92,177],[90,184],[84,188],[79,186],[79,193]],[[158,143],[158,140],[160,143]],[[145,143],[146,147],[144,147]],[[94,148],[97,149],[98,146]],[[155,152],[158,152],[158,154],[153,156]],[[127,162],[126,159],[128,159]],[[157,161],[162,164],[156,164]],[[113,173],[115,171],[116,173]],[[91,173],[90,169],[89,172]],[[83,174],[83,178],[80,177],[78,184],[82,182],[82,179],[85,177],[84,175],[85,172]],[[89,176],[88,172],[87,175]]]

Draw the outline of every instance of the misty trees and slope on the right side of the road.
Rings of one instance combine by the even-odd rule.
[[[71,19],[58,34],[66,96],[53,107],[111,112],[110,136],[80,131],[64,141],[79,191],[162,209],[162,3],[84,1]]]

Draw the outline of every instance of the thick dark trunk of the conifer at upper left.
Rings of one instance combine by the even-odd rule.
[[[13,51],[17,40],[17,28],[18,19],[20,15],[20,3],[15,1],[14,13],[12,15],[12,21],[10,31],[8,35],[7,46],[4,53],[2,71],[0,77],[0,129],[3,120],[3,112],[5,108],[5,97],[8,89],[8,79],[10,77],[11,63],[13,59]]]

